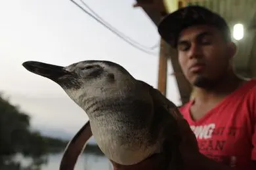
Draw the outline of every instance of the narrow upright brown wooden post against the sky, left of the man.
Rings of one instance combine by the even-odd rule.
[[[163,95],[166,95],[166,84],[167,84],[167,46],[165,41],[161,39],[160,41],[160,58],[159,58],[159,68],[158,68],[158,90],[160,90]]]

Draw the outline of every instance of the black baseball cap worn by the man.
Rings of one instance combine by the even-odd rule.
[[[216,27],[221,32],[224,41],[232,41],[230,28],[224,18],[205,7],[197,5],[181,8],[165,16],[158,24],[158,32],[168,44],[173,48],[177,48],[177,41],[181,31],[193,25]]]

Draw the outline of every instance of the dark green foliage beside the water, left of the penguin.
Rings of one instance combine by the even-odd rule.
[[[45,163],[49,152],[60,152],[67,142],[43,137],[37,131],[30,131],[30,116],[11,105],[0,94],[0,169],[22,169],[14,162],[16,154],[32,158],[32,165],[26,169],[39,169]]]

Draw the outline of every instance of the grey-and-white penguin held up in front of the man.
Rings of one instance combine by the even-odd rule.
[[[164,169],[182,169],[177,126],[181,113],[160,91],[121,65],[104,60],[66,67],[39,61],[22,65],[56,82],[89,118],[66,147],[60,169],[74,169],[91,136],[114,169],[136,169],[154,154],[166,156]]]

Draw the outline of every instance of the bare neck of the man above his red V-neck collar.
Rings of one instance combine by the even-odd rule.
[[[218,101],[220,99],[223,99],[226,95],[234,92],[244,82],[245,80],[242,80],[234,73],[230,73],[218,84],[216,84],[215,88],[211,88],[210,90],[194,87],[194,98],[196,99],[196,101],[200,101],[200,103]]]

